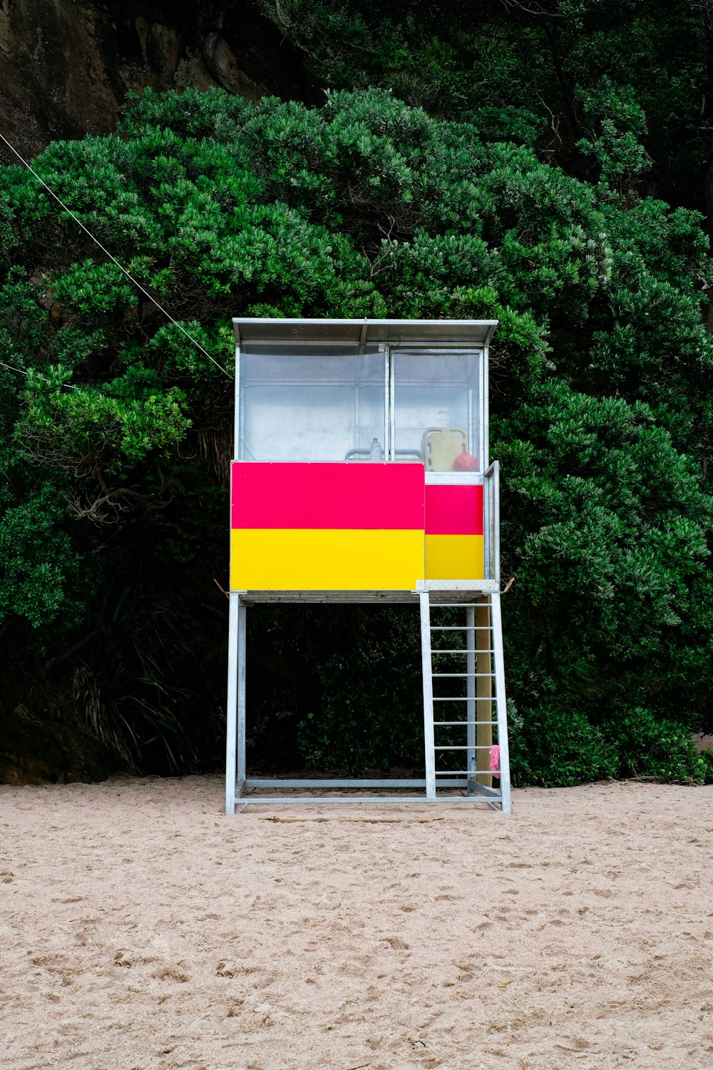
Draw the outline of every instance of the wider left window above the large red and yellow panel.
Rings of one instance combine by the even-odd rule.
[[[383,458],[384,350],[241,353],[239,459],[369,461]],[[375,440],[375,442],[374,442]]]

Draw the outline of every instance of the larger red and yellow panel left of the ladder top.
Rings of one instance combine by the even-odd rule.
[[[235,462],[233,591],[408,591],[423,578],[421,464]]]

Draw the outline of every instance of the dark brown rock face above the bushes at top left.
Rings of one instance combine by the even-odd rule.
[[[0,131],[24,155],[109,133],[146,86],[314,96],[300,54],[250,0],[0,0]]]

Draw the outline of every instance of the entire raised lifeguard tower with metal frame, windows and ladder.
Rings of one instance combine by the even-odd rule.
[[[338,789],[330,801],[443,798],[509,813],[498,464],[487,456],[497,321],[233,325],[227,812]],[[338,601],[419,608],[423,776],[251,778],[248,607]]]

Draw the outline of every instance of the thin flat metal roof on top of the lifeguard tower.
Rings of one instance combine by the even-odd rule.
[[[267,320],[233,319],[237,345],[332,342],[366,346],[389,342],[430,346],[487,346],[497,320]]]

